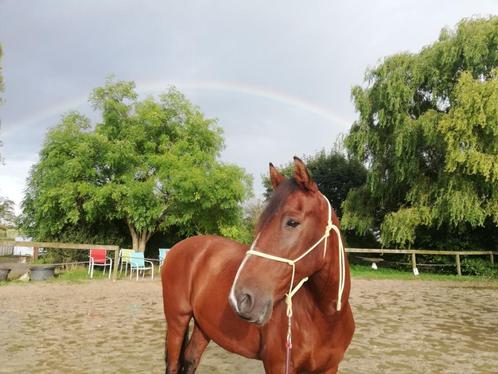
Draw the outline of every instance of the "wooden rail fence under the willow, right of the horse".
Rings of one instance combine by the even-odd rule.
[[[346,248],[349,253],[378,253],[378,254],[411,254],[412,269],[417,268],[417,255],[433,256],[455,256],[457,274],[462,275],[460,265],[461,256],[489,256],[491,264],[494,265],[494,256],[498,256],[498,251],[436,251],[429,249],[380,249],[380,248]]]

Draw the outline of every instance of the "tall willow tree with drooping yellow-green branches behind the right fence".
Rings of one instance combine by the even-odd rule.
[[[352,97],[359,118],[345,142],[370,170],[343,226],[380,227],[385,245],[475,230],[496,245],[498,17],[462,20],[420,53],[385,58]]]

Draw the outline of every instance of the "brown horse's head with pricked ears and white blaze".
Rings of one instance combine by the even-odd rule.
[[[299,158],[289,179],[270,163],[270,180],[273,194],[229,295],[232,309],[257,324],[266,323],[276,302],[323,267],[331,228],[332,208]]]

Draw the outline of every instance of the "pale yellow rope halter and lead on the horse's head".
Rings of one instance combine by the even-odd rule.
[[[290,282],[290,287],[289,287],[289,292],[285,295],[285,303],[287,304],[287,339],[285,343],[286,347],[286,357],[285,357],[285,373],[288,374],[290,371],[290,359],[291,359],[291,350],[292,350],[292,297],[296,294],[297,291],[302,287],[304,282],[308,280],[308,278],[303,278],[301,281],[296,285],[296,287],[292,288],[292,285],[294,284],[294,276],[296,274],[296,262],[299,260],[303,259],[306,257],[308,254],[311,253],[323,240],[325,240],[324,245],[323,245],[323,257],[325,258],[325,254],[327,253],[327,238],[330,236],[330,230],[334,230],[335,233],[337,234],[338,238],[338,244],[339,244],[339,253],[338,253],[338,262],[339,262],[339,287],[337,290],[337,306],[336,309],[337,311],[341,310],[341,304],[342,304],[342,293],[344,291],[344,285],[345,285],[345,274],[344,274],[344,268],[345,268],[345,260],[344,260],[344,247],[342,245],[342,238],[341,238],[341,233],[339,231],[339,228],[332,223],[332,207],[330,206],[330,202],[327,199],[325,195],[323,195],[323,198],[327,202],[328,206],[328,220],[327,220],[327,226],[325,228],[325,233],[323,236],[315,243],[313,244],[306,252],[304,252],[301,256],[296,258],[295,260],[289,260],[288,258],[284,257],[279,257],[279,256],[274,256],[270,255],[268,253],[260,252],[255,250],[256,248],[256,242],[259,239],[259,234],[256,236],[256,239],[254,239],[254,242],[251,245],[251,248],[246,252],[246,256],[254,255],[254,256],[259,256],[266,258],[268,260],[273,260],[273,261],[278,261],[278,262],[284,262],[292,267],[292,273],[291,273],[291,282]]]

